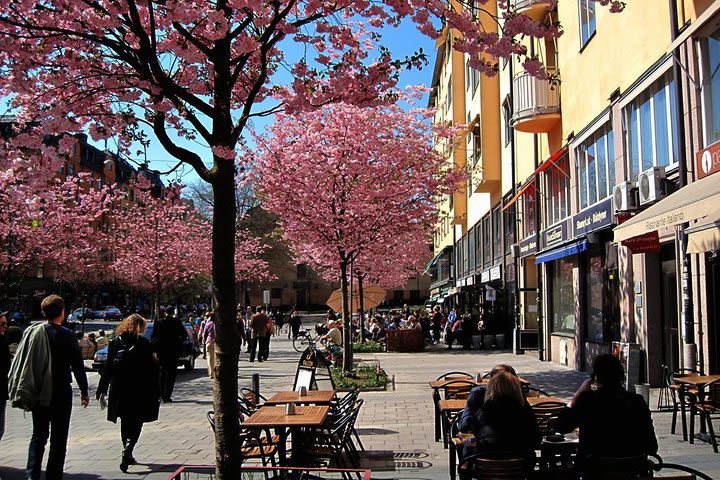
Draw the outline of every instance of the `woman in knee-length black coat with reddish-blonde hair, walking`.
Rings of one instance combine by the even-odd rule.
[[[142,425],[158,419],[160,392],[158,367],[150,341],[142,334],[147,321],[133,314],[123,320],[108,345],[107,364],[100,377],[95,397],[108,393],[108,420],[120,418],[123,451],[120,470],[137,463],[132,452],[140,437]]]

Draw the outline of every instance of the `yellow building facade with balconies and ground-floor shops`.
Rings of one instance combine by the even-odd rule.
[[[480,167],[441,300],[482,313],[498,345],[574,369],[622,349],[630,384],[717,370],[714,214],[673,208],[720,191],[718,2],[634,0],[621,13],[591,0],[511,4],[564,33],[527,44],[550,81],[512,61],[492,79],[474,81],[467,66],[452,79],[465,88],[463,115],[453,112],[469,125],[465,161]]]

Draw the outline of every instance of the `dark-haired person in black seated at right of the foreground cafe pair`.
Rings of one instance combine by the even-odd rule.
[[[578,466],[589,469],[593,459],[644,457],[657,453],[650,408],[641,395],[622,385],[624,370],[617,357],[604,354],[593,362],[593,373],[560,412],[555,429],[580,429]]]

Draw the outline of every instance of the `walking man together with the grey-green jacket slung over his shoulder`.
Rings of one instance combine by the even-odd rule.
[[[80,388],[80,403],[90,403],[85,364],[73,332],[62,326],[65,302],[57,295],[40,304],[47,323],[25,330],[10,366],[9,400],[14,407],[32,411],[33,431],[28,448],[25,478],[40,478],[45,445],[50,451],[46,480],[63,477],[72,413],[70,372]]]

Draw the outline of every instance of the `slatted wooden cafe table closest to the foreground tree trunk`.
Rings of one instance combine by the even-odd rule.
[[[263,427],[275,429],[280,435],[278,456],[280,465],[287,465],[285,442],[288,431],[292,435],[293,455],[300,450],[299,429],[301,427],[320,427],[327,418],[330,407],[326,405],[298,405],[294,415],[287,415],[285,407],[263,406],[243,422],[243,427]],[[293,459],[295,463],[296,459]]]

